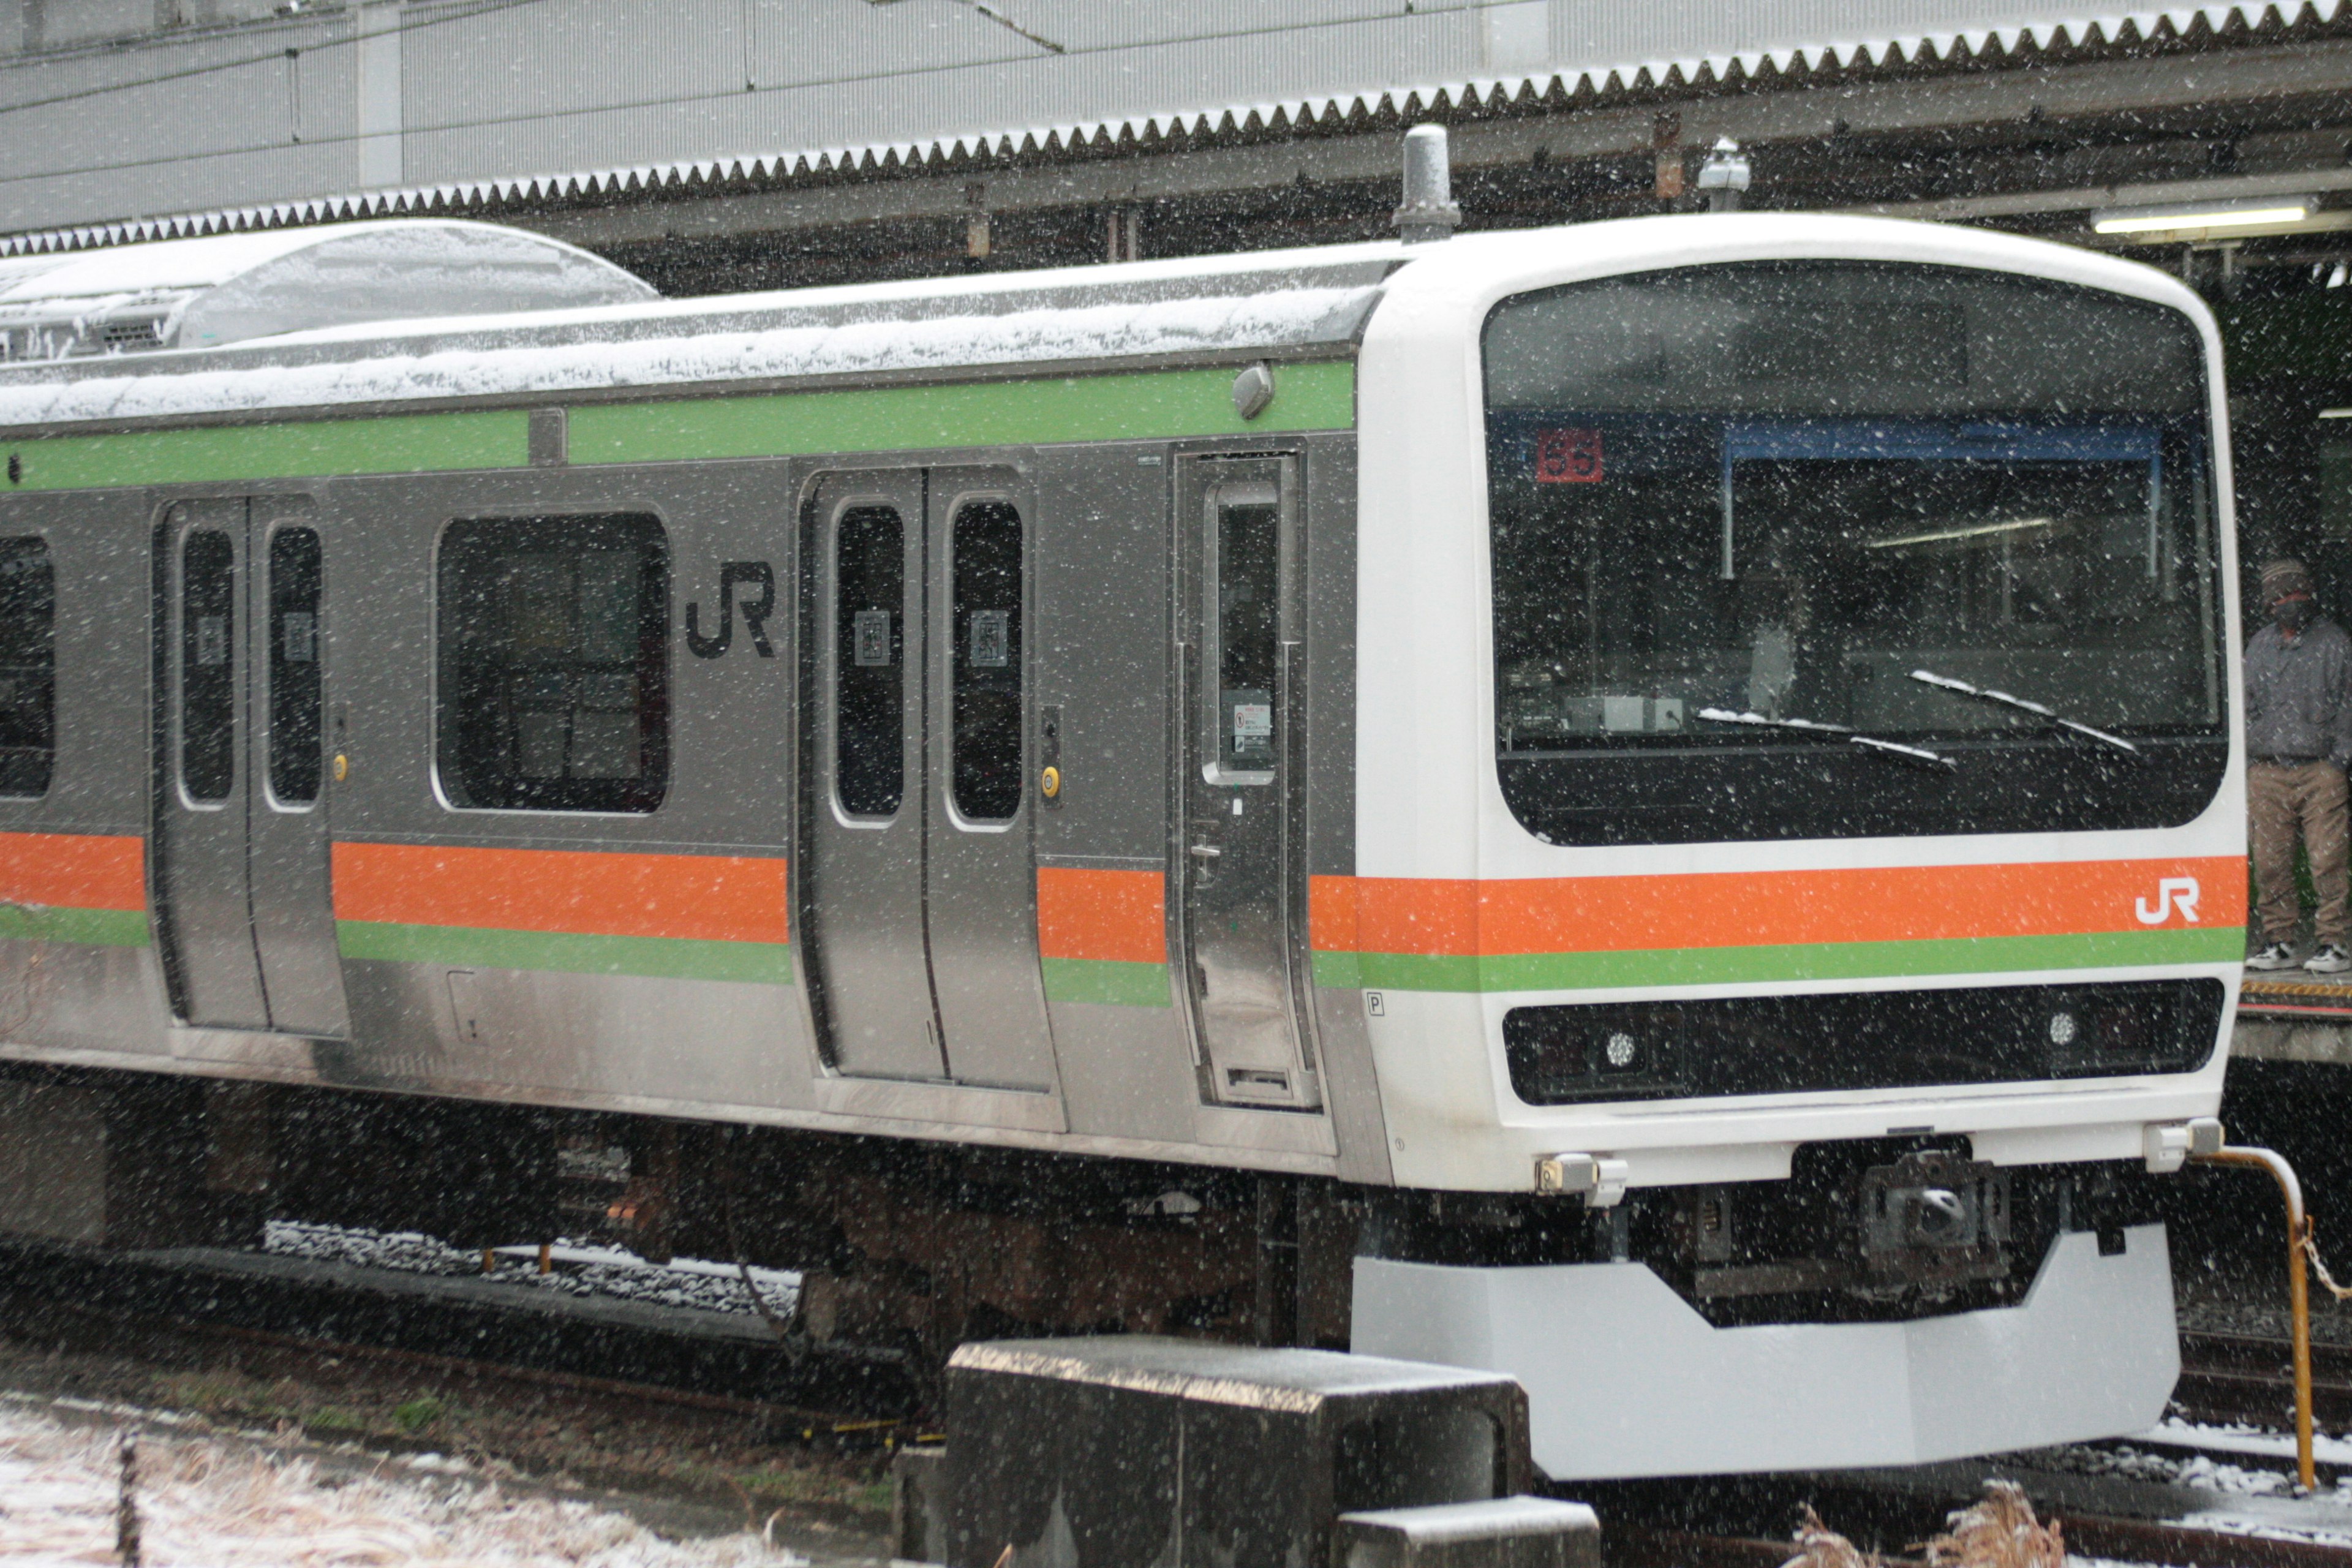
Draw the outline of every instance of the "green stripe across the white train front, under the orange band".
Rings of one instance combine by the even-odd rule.
[[[1317,952],[1315,983],[1345,990],[1541,992],[1649,985],[1875,980],[2140,964],[2237,964],[2244,926],[1976,936],[1924,943],[1802,943],[1788,947],[1663,947],[1644,952]]]

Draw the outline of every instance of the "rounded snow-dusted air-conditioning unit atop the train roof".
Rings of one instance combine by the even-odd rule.
[[[496,223],[395,219],[0,261],[0,360],[212,348],[348,322],[619,306],[654,289]]]

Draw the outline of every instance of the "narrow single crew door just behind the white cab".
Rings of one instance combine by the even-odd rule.
[[[1301,1027],[1296,458],[1185,458],[1176,524],[1171,952],[1209,1095],[1319,1103]]]

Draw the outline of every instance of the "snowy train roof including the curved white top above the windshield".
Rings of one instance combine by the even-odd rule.
[[[139,249],[169,247],[118,254],[129,259]],[[2046,240],[1830,214],[1684,214],[1461,235],[1444,244],[1383,240],[779,294],[376,320],[223,348],[0,364],[0,430],[294,416],[369,404],[583,402],[675,388],[713,393],[1345,357],[1357,353],[1381,299],[1399,287],[1425,294],[1423,308],[1454,299],[1482,313],[1475,296],[1491,303],[1489,287],[1510,277],[1524,282],[1508,287],[1536,287],[1538,275],[1564,280],[1571,273],[1740,256],[1884,256],[2002,268],[2194,308],[2178,280]]]

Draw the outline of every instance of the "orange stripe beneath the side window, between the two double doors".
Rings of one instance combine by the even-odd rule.
[[[764,856],[334,846],[336,919],[783,943],[786,907],[783,860]]]

